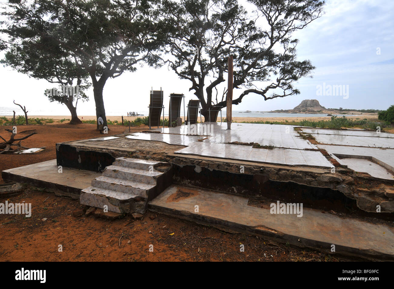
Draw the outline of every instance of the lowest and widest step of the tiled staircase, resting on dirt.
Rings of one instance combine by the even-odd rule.
[[[136,197],[137,195],[133,194],[89,186],[81,191],[80,203],[101,209],[107,205],[108,211],[123,214],[134,212],[134,198]]]

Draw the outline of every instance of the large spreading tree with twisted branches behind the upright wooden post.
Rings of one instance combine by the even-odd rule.
[[[246,10],[236,0],[181,0],[164,2],[165,19],[172,28],[169,56],[162,57],[201,101],[205,119],[212,106],[225,107],[227,58],[234,57],[233,88],[264,100],[298,94],[294,82],[309,76],[309,60],[297,60],[292,33],[322,15],[320,0],[249,0]],[[216,97],[214,97],[216,91]],[[215,98],[215,99],[214,99]]]

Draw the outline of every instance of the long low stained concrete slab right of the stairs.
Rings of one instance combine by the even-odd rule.
[[[275,201],[273,201],[275,205]],[[195,212],[195,205],[199,212]],[[271,205],[270,205],[271,206]],[[303,208],[301,214],[271,214],[248,205],[248,198],[171,185],[149,202],[149,209],[219,229],[247,232],[326,254],[394,260],[394,230],[385,225]]]

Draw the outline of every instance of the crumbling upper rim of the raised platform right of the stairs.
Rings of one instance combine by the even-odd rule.
[[[133,155],[133,154],[129,154]],[[139,156],[139,155],[138,155]],[[136,157],[135,155],[133,157]],[[201,167],[208,170],[219,170],[222,172],[240,173],[240,164],[234,164],[231,160],[222,161],[215,160],[201,160],[196,158],[179,157],[177,155],[165,155],[155,157],[151,155],[150,159],[162,160],[180,166],[195,166],[198,169]],[[385,194],[385,190],[394,184],[392,180],[376,180],[372,177],[368,178],[364,175],[358,175],[353,170],[348,168],[340,168],[335,173],[325,172],[323,170],[298,170],[295,168],[284,168],[273,166],[266,167],[264,164],[256,165],[242,165],[243,174],[256,175],[262,174],[268,177],[270,181],[279,182],[294,182],[299,185],[306,185],[318,188],[330,188],[342,192],[346,197],[356,200],[357,206],[370,213],[377,213],[377,205],[381,206],[381,213],[394,212],[394,199],[389,198]],[[367,184],[363,181],[369,180]],[[360,181],[361,180],[361,181]],[[381,185],[386,188],[381,188]],[[369,190],[360,190],[360,185],[366,186]],[[378,190],[374,186],[380,186]],[[375,194],[372,193],[375,192]]]

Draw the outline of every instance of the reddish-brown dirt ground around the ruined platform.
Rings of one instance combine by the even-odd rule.
[[[125,127],[110,126],[111,134]],[[100,136],[96,125],[19,126],[20,136],[37,134],[22,141],[27,147],[46,146],[36,154],[2,154],[0,171],[56,158],[56,142]],[[134,128],[141,131],[145,127]],[[0,131],[8,138],[10,133]],[[2,180],[0,180],[2,182]],[[0,200],[4,203],[6,200]],[[29,186],[8,199],[9,203],[31,203],[32,216],[0,214],[0,258],[2,261],[346,261],[338,255],[301,249],[286,244],[231,234],[148,212],[142,220],[126,217],[104,220],[74,217],[78,200],[59,197]],[[47,218],[45,221],[42,219]],[[153,252],[149,252],[149,245]],[[240,252],[244,244],[245,252]],[[58,252],[62,245],[63,252]]]

